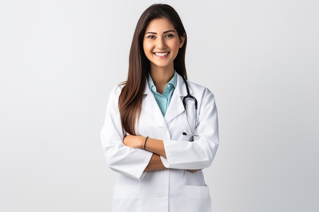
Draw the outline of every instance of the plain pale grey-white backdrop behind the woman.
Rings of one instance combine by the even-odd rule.
[[[110,211],[100,129],[141,13],[166,3],[216,98],[213,211],[319,211],[319,2],[0,1],[0,211]]]

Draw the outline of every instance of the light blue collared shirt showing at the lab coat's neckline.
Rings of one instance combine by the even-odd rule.
[[[163,90],[163,95],[156,92],[156,87],[154,85],[153,79],[150,74],[148,74],[147,77],[148,86],[151,89],[151,91],[154,94],[155,100],[159,106],[159,109],[161,109],[163,116],[165,116],[167,108],[171,102],[174,89],[177,84],[177,73],[174,71],[173,78],[165,85]]]

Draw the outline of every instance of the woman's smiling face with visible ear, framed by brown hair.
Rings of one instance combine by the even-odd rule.
[[[153,19],[146,27],[143,49],[150,61],[151,70],[174,70],[174,59],[183,46],[184,37],[178,37],[173,24],[166,18]]]

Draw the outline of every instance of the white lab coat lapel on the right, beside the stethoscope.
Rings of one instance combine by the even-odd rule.
[[[192,90],[190,89],[190,93],[192,94]],[[165,114],[166,123],[169,123],[173,118],[179,115],[184,111],[183,106],[183,98],[187,96],[187,90],[185,87],[185,82],[183,78],[177,74],[177,84],[170,102],[168,109]]]

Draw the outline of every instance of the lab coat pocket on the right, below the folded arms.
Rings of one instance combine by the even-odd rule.
[[[211,211],[208,186],[184,186],[184,211]]]

